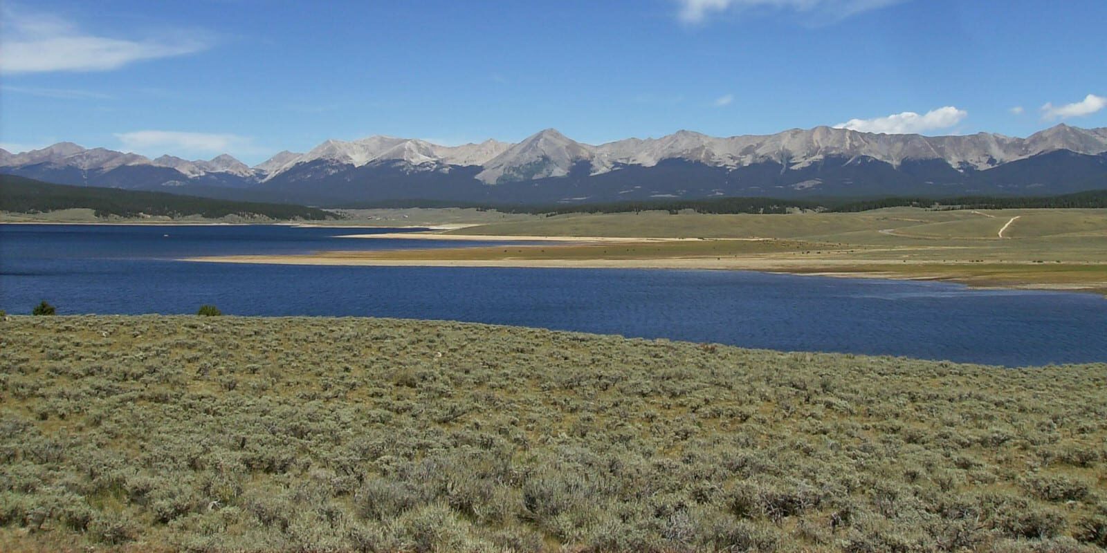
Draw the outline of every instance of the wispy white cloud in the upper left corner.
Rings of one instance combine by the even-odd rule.
[[[190,54],[211,45],[210,40],[197,33],[149,39],[100,36],[53,15],[10,7],[0,17],[3,19],[0,72],[8,74],[110,71],[137,61]]]

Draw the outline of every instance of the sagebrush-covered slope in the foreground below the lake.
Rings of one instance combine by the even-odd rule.
[[[1107,546],[1104,364],[365,319],[0,336],[4,551]]]

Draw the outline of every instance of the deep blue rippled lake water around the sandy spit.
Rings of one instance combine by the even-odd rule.
[[[742,271],[304,267],[188,255],[453,248],[397,229],[0,225],[0,309],[473,321],[1006,366],[1107,362],[1107,300]],[[473,244],[472,242],[467,244]]]

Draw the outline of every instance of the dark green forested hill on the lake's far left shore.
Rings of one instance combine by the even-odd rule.
[[[270,219],[335,219],[322,209],[287,204],[228,201],[166,192],[120,190],[84,186],[53,185],[12,175],[0,175],[0,211],[37,213],[85,208],[96,217],[188,217],[218,219],[227,216]]]

